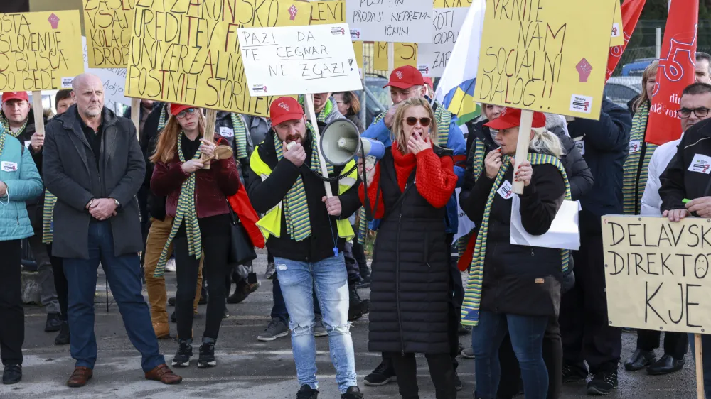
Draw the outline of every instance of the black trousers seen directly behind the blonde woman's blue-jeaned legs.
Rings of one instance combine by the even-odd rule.
[[[559,399],[563,389],[563,346],[557,317],[550,317],[548,320],[542,351],[543,361],[548,369],[547,399]],[[513,398],[522,388],[521,370],[518,368],[518,359],[508,334],[498,349],[498,361],[501,364],[501,379],[498,382],[497,395],[499,398]]]

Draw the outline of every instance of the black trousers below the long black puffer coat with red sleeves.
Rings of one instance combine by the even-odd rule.
[[[400,388],[402,399],[419,399],[417,386],[417,361],[415,354],[402,354],[401,352],[386,352],[392,361],[397,376],[397,386]],[[456,398],[454,388],[454,369],[451,368],[451,359],[448,354],[425,355],[429,376],[434,383],[435,398]]]

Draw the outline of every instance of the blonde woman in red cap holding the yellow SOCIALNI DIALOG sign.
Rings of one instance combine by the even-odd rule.
[[[486,126],[498,130],[501,148],[486,155],[485,173],[461,209],[479,226],[461,323],[474,326],[477,399],[496,399],[498,349],[508,332],[520,364],[526,399],[545,399],[548,373],[542,341],[549,319],[557,317],[567,251],[510,244],[511,213],[520,212],[528,234],[545,234],[562,201],[570,198],[563,150],[545,129],[545,115],[533,114],[528,160],[514,164],[521,111],[505,109]],[[528,133],[528,132],[527,132]],[[512,183],[523,182],[520,207],[512,207]]]

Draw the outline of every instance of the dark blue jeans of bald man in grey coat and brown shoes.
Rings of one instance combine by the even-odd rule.
[[[141,352],[143,371],[151,371],[166,360],[159,354],[158,339],[151,325],[151,313],[141,293],[141,265],[138,254],[114,256],[111,222],[89,224],[89,259],[65,258],[64,274],[69,288],[68,321],[70,350],[75,366],[94,368],[94,295],[96,271],[101,262],[114,300],[124,319],[133,346]]]

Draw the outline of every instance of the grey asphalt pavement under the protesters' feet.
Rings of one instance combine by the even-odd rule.
[[[115,303],[109,310],[105,300],[105,278],[100,271],[97,283],[95,306],[95,332],[99,346],[94,377],[84,388],[68,388],[65,381],[73,371],[74,361],[69,346],[55,346],[56,333],[43,331],[45,313],[41,307],[25,308],[25,344],[23,346],[23,381],[14,386],[0,385],[1,399],[21,398],[249,398],[282,399],[296,398],[299,389],[289,337],[272,342],[257,341],[257,334],[269,322],[272,306],[272,282],[264,279],[267,262],[264,253],[255,261],[255,272],[262,286],[250,297],[237,305],[228,305],[230,317],[223,320],[220,339],[215,347],[218,366],[198,369],[196,366],[176,370],[183,376],[178,386],[165,386],[146,381],[141,372],[141,358],[129,342],[121,315]],[[169,296],[176,290],[175,273],[166,273]],[[234,289],[234,286],[233,288]],[[146,295],[144,291],[144,295]],[[360,290],[368,297],[370,291]],[[147,295],[146,295],[147,297]],[[169,307],[169,311],[172,311]],[[205,307],[194,322],[195,336],[201,337]],[[1,321],[0,321],[1,322]],[[176,325],[171,324],[171,334]],[[355,347],[355,369],[358,385],[368,399],[400,398],[397,383],[382,387],[368,387],[363,377],[378,366],[380,354],[368,352],[368,317],[353,323],[351,327]],[[635,334],[623,335],[622,357],[625,359],[634,350]],[[460,337],[464,346],[471,346],[471,336]],[[166,361],[175,354],[177,344],[172,339],[161,339],[161,352]],[[318,350],[316,361],[319,369],[319,398],[338,399],[335,373],[328,354],[328,338],[316,338]],[[658,350],[658,356],[661,356]],[[193,359],[196,359],[195,356]],[[195,361],[193,361],[193,364]],[[429,380],[429,371],[424,357],[418,356],[417,382],[420,398],[434,399],[434,386]],[[615,399],[693,399],[696,398],[694,364],[687,355],[682,371],[668,376],[648,376],[644,371],[630,373],[619,368],[619,389],[608,396]],[[472,398],[474,390],[474,361],[459,358],[459,376],[464,389],[458,398]],[[565,386],[564,398],[587,398],[584,385]],[[520,398],[523,398],[521,396]]]

